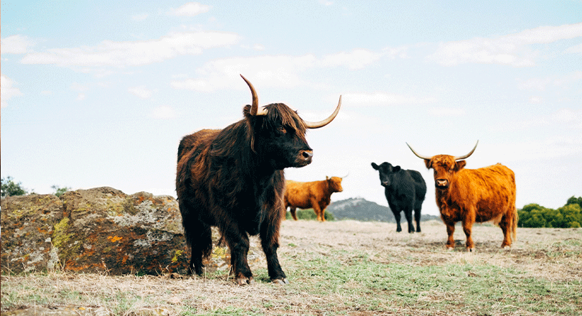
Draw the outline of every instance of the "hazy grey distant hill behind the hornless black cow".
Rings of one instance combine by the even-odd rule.
[[[332,202],[329,207],[327,207],[326,212],[334,214],[336,219],[356,219],[364,222],[396,222],[394,214],[390,211],[390,207],[378,205],[374,202],[364,200],[361,197],[351,197],[347,200]],[[404,213],[402,212],[400,214],[402,215],[400,223],[405,223],[406,218],[404,217]],[[427,214],[422,214],[420,217],[421,222],[431,219],[440,220],[440,217]]]

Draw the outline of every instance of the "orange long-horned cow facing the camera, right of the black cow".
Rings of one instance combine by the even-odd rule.
[[[477,141],[477,144],[479,142]],[[515,175],[510,168],[500,163],[485,168],[464,169],[465,159],[477,148],[464,156],[421,156],[410,145],[408,147],[418,158],[424,159],[427,168],[434,169],[434,185],[437,187],[437,205],[441,218],[446,224],[449,240],[446,248],[455,246],[453,233],[455,223],[463,222],[467,236],[467,250],[473,251],[475,245],[471,229],[475,222],[493,220],[503,230],[502,248],[511,246],[517,229],[517,209],[515,209]],[[512,235],[512,236],[510,236]]]

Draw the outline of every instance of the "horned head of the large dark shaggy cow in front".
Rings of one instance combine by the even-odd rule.
[[[331,116],[323,121],[309,122],[301,119],[296,111],[282,103],[259,107],[255,88],[245,77],[243,80],[251,89],[253,97],[253,104],[243,108],[253,151],[275,170],[309,165],[313,150],[305,139],[305,131],[326,126],[335,119],[341,107],[341,96]]]

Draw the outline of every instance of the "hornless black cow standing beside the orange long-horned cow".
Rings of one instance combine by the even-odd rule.
[[[400,168],[400,165],[392,166],[390,163],[381,165],[372,163],[372,168],[380,172],[380,182],[385,187],[386,200],[396,219],[396,231],[402,231],[400,211],[404,211],[408,222],[408,232],[414,232],[412,225],[412,209],[414,209],[416,231],[420,232],[420,209],[424,202],[424,195],[427,194],[427,184],[422,175],[416,170],[404,170]]]

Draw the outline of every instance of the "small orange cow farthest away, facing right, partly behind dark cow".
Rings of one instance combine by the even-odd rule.
[[[345,178],[345,177],[344,177]],[[297,220],[295,211],[313,208],[319,222],[325,222],[324,212],[331,202],[331,193],[341,192],[341,179],[339,177],[325,177],[325,180],[312,182],[297,182],[287,180],[285,182],[285,209],[290,207],[291,216]]]

